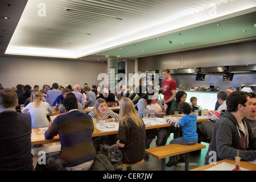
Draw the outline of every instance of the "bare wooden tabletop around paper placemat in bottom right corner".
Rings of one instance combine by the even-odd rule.
[[[195,169],[191,169],[191,171],[205,171],[206,169],[209,169],[211,167],[216,166],[217,164],[221,164],[221,163],[229,163],[229,164],[233,164],[236,165],[236,161],[235,160],[229,160],[229,159],[225,159],[225,160],[220,160],[218,161],[216,164],[208,164],[202,167],[198,167]],[[246,162],[246,161],[240,161],[240,167],[245,168],[245,169],[249,169],[251,171],[256,171],[256,164],[251,163],[251,162]]]

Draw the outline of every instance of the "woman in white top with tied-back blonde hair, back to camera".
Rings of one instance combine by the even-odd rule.
[[[42,94],[38,90],[33,94],[33,98],[34,100],[22,109],[22,113],[27,113],[27,111],[29,111],[32,129],[48,127],[49,121],[46,114],[47,111],[48,113],[52,113],[53,110],[51,106],[48,102],[43,102]]]

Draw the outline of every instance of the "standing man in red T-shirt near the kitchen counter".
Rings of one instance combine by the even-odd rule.
[[[166,114],[169,115],[171,111],[171,104],[174,101],[177,83],[174,79],[171,78],[171,72],[169,69],[164,69],[163,71],[163,83],[162,83],[162,94],[164,95],[164,99],[162,102],[166,102],[167,111]]]

